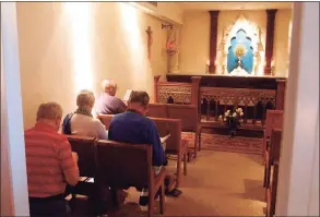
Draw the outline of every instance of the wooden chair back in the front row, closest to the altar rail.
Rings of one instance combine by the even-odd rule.
[[[183,132],[197,132],[198,130],[198,111],[194,105],[169,105],[167,104],[167,118],[180,119]]]

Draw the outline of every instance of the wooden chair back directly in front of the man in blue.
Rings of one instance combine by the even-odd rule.
[[[170,134],[166,141],[166,152],[180,152],[181,149],[181,120],[165,119],[165,118],[150,118],[155,122],[161,136]]]

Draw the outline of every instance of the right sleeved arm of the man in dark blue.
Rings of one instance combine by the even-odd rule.
[[[151,125],[149,128],[150,142],[152,144],[152,161],[153,166],[163,166],[166,164],[166,155],[164,148],[161,143],[159,134],[157,132],[156,125],[153,121],[151,121]]]

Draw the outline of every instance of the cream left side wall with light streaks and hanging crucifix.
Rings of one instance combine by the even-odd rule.
[[[100,91],[103,79],[153,97],[153,75],[167,68],[166,31],[162,21],[129,3],[19,2],[24,126],[35,122],[43,101],[56,100],[64,113],[75,108],[76,93]],[[147,26],[153,31],[147,60]]]

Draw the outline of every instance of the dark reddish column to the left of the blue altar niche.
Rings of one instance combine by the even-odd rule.
[[[217,41],[217,17],[220,11],[209,11],[210,13],[210,65],[209,73],[215,74],[216,41]]]

